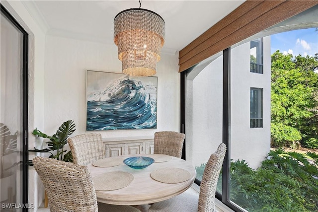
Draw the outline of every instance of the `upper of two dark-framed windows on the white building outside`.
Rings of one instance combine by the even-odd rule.
[[[263,73],[263,38],[250,42],[250,72]]]

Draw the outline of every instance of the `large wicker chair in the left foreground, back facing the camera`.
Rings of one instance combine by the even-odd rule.
[[[140,212],[132,206],[98,203],[87,166],[37,156],[32,160],[51,212]]]

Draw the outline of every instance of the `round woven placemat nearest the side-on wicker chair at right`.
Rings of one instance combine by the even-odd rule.
[[[190,179],[191,174],[180,168],[161,168],[150,173],[150,176],[161,183],[181,183]]]

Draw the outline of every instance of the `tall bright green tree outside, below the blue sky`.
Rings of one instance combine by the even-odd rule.
[[[276,51],[271,60],[271,145],[317,141],[318,54],[293,58]]]

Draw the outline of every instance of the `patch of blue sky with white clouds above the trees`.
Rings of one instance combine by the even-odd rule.
[[[271,35],[271,54],[279,50],[293,56],[315,56],[318,53],[317,28],[299,29]]]

